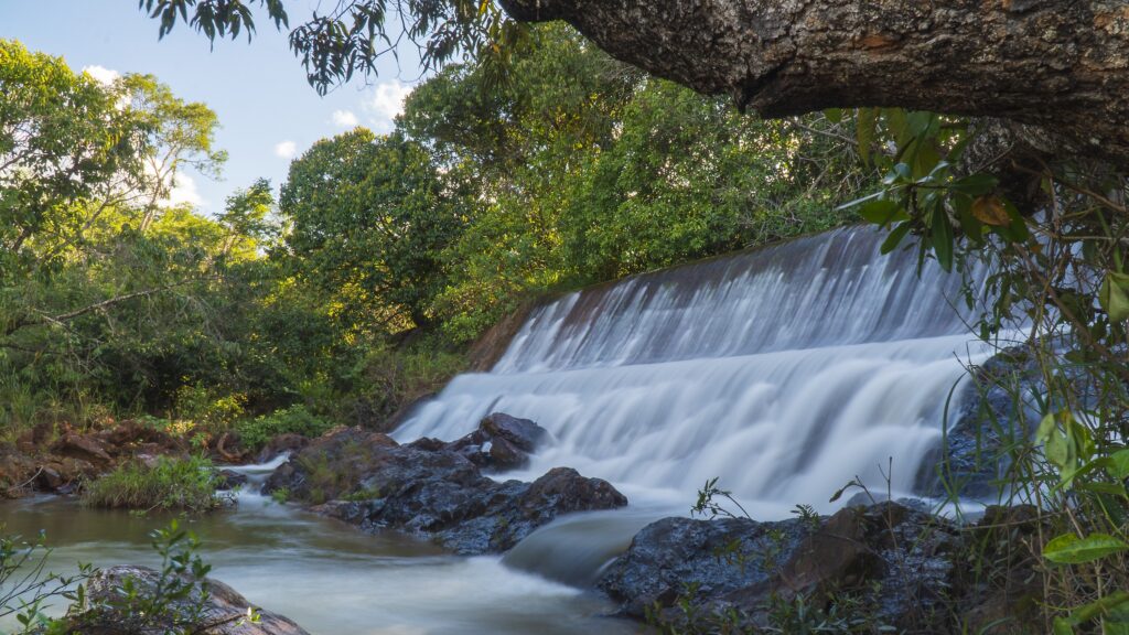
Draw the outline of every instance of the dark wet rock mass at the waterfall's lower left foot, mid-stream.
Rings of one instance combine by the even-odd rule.
[[[498,482],[449,444],[399,445],[360,428],[333,430],[295,454],[264,494],[288,497],[366,531],[394,529],[457,554],[501,553],[561,514],[627,505],[610,484],[557,468]]]

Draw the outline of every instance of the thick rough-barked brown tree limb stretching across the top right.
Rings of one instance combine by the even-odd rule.
[[[784,116],[901,106],[1129,166],[1126,0],[501,0],[615,58]]]

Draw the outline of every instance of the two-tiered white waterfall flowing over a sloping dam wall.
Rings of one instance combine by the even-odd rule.
[[[962,363],[989,351],[960,276],[926,262],[919,278],[917,253],[879,255],[883,238],[839,229],[570,294],[395,436],[527,417],[555,437],[528,476],[569,466],[683,508],[714,477],[769,516],[826,511],[856,476],[911,494]]]

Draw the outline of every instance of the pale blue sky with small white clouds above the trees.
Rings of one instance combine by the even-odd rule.
[[[291,26],[316,5],[287,1]],[[402,52],[399,67],[391,58],[382,60],[378,77],[353,79],[321,97],[306,82],[286,33],[275,31],[265,15],[256,18],[257,34],[250,44],[240,35],[211,47],[180,21],[158,40],[158,21],[140,11],[137,0],[0,0],[0,38],[62,56],[75,70],[99,79],[150,73],[177,97],[211,107],[222,127],[217,146],[228,153],[221,180],[187,172],[172,198],[215,215],[228,195],[255,179],[270,179],[278,192],[290,160],[318,139],[357,125],[390,131],[420,80],[414,58]]]

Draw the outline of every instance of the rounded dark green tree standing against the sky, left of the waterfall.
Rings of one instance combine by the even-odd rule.
[[[318,141],[290,165],[279,203],[303,276],[349,315],[373,323],[360,316],[384,308],[376,322],[430,322],[439,253],[463,220],[422,147],[361,128]]]

